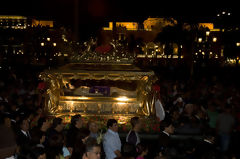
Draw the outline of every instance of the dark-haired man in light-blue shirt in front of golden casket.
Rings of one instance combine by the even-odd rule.
[[[106,155],[106,159],[114,159],[121,157],[121,140],[118,135],[118,124],[115,119],[109,119],[107,121],[107,132],[103,139],[103,148]]]

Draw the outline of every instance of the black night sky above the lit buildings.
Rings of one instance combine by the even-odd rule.
[[[54,19],[65,26],[73,27],[76,0],[2,0],[0,14],[36,16]],[[99,26],[109,20],[142,22],[149,16],[177,16],[186,19],[216,17],[228,9],[237,17],[240,9],[237,1],[228,0],[79,0],[80,26]],[[105,23],[104,23],[105,22]],[[96,27],[97,27],[96,25]],[[95,28],[96,29],[96,28]]]

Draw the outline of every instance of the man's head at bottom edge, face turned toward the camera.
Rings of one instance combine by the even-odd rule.
[[[100,159],[101,146],[97,144],[96,139],[89,137],[86,141],[85,153],[83,159]]]

